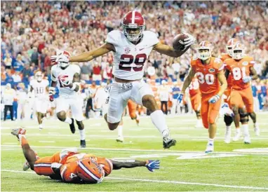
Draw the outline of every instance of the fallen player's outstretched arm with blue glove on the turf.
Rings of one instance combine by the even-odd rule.
[[[159,160],[124,160],[116,161],[112,160],[113,170],[120,170],[121,168],[133,168],[133,167],[147,167],[151,172],[159,169]]]

